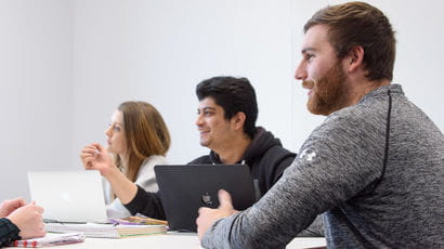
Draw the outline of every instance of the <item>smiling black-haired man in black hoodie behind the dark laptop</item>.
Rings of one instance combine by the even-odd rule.
[[[248,165],[260,195],[264,195],[296,154],[284,148],[270,131],[256,127],[258,104],[249,80],[213,77],[196,87],[196,95],[200,145],[211,152],[190,163]]]

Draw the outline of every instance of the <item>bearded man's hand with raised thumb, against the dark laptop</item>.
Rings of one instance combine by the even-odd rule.
[[[230,217],[238,211],[234,210],[233,201],[231,195],[224,191],[220,189],[219,196],[219,208],[199,208],[199,217],[196,219],[197,224],[197,235],[199,240],[203,239],[205,233],[212,226],[212,224],[222,218]]]

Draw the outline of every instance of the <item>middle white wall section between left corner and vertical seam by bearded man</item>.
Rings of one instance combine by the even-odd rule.
[[[104,143],[114,108],[135,99],[164,115],[172,135],[170,162],[206,154],[194,124],[195,86],[217,75],[250,78],[259,123],[291,142],[290,1],[75,2],[77,150],[93,141]],[[78,160],[78,152],[73,153]]]

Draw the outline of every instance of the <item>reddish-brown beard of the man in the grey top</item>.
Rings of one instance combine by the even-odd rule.
[[[302,84],[314,84],[311,97],[306,103],[306,107],[312,114],[327,116],[347,106],[345,74],[340,62],[336,63],[319,79],[304,81]]]

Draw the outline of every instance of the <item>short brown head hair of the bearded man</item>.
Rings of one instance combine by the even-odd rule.
[[[304,32],[318,24],[328,27],[329,42],[339,60],[360,45],[364,49],[366,77],[392,80],[396,40],[392,25],[380,10],[365,2],[327,6],[306,22]]]

